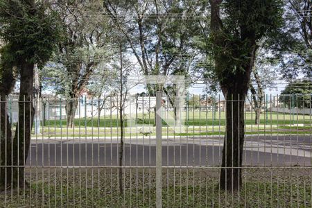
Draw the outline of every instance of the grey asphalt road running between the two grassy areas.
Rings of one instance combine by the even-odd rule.
[[[164,139],[163,166],[218,166],[223,138]],[[125,139],[123,166],[155,166],[155,139]],[[118,166],[116,139],[32,141],[31,166]],[[245,139],[243,164],[311,166],[311,136],[259,136]]]

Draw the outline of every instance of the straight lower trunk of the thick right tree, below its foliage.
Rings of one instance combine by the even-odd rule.
[[[236,191],[241,187],[241,166],[244,143],[244,102],[243,94],[231,94],[226,98],[226,131],[223,144],[220,188]]]

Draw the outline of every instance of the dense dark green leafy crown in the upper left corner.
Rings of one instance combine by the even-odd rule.
[[[0,24],[7,44],[1,60],[17,67],[28,62],[42,68],[60,40],[58,16],[37,1],[0,0]]]

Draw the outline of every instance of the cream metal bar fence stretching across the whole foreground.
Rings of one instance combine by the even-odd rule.
[[[312,207],[311,96],[264,96],[259,119],[245,99],[239,191],[219,185],[226,106],[237,101],[190,95],[177,110],[158,96],[78,98],[73,126],[73,100],[1,100],[0,207]],[[29,152],[15,164],[31,122],[18,111],[32,103]]]

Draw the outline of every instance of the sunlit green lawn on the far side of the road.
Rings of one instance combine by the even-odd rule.
[[[194,136],[194,135],[224,135],[225,114],[216,112],[214,119],[212,112],[189,112],[189,119],[185,120],[185,132],[175,133],[173,127],[163,121],[163,135]],[[166,115],[165,115],[166,117]],[[125,136],[137,137],[155,136],[154,114],[138,114],[137,119],[125,119]],[[120,135],[120,122],[116,115],[112,117],[96,117],[93,119],[75,119],[75,127],[67,128],[66,120],[48,120],[43,129],[43,135],[38,137],[117,137]],[[246,135],[311,135],[312,117],[308,115],[290,115],[268,112],[261,114],[258,125],[254,124],[254,114],[245,113]],[[33,135],[35,137],[35,135]]]

